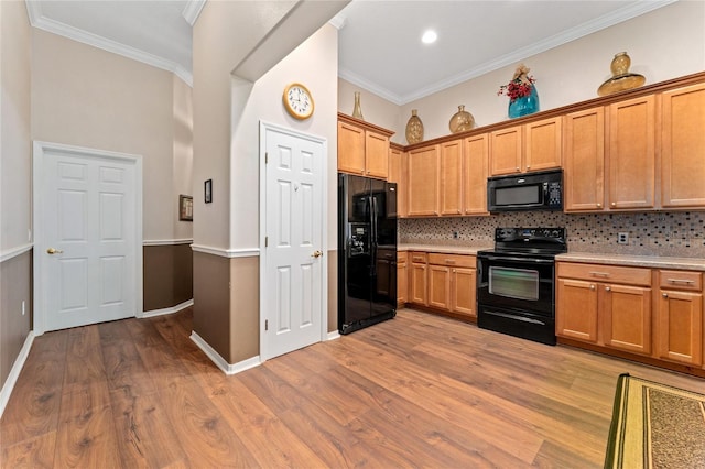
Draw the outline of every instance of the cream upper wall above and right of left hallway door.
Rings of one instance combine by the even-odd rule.
[[[173,239],[173,75],[42,30],[32,39],[32,138],[142,155],[144,239]]]

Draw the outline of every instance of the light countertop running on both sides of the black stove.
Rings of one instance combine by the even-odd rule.
[[[460,246],[460,244],[411,244],[401,243],[399,251],[440,252],[444,254],[477,254],[477,251],[491,249],[491,244]],[[556,261],[584,262],[592,264],[612,264],[637,268],[677,269],[685,271],[705,272],[705,259],[701,258],[673,258],[661,255],[633,255],[633,254],[596,254],[592,252],[567,252],[558,254]]]

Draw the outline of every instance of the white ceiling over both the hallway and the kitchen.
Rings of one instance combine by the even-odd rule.
[[[673,1],[356,0],[333,20],[339,76],[404,105]],[[192,83],[191,29],[205,0],[26,3],[34,26]],[[427,29],[438,34],[431,45],[421,43]]]

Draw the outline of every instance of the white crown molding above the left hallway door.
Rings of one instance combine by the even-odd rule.
[[[31,0],[25,1],[28,15],[30,17],[30,24],[32,26],[53,33],[58,34],[64,37],[68,37],[73,41],[80,42],[84,44],[91,45],[97,48],[101,48],[107,52],[111,52],[113,54],[121,55],[123,57],[141,62],[147,65],[151,65],[156,68],[161,68],[166,72],[171,72],[181,78],[186,85],[189,87],[194,86],[193,74],[189,70],[186,70],[181,65],[175,62],[167,61],[162,57],[158,57],[156,55],[150,54],[144,51],[140,51],[134,47],[130,47],[129,45],[121,44],[119,42],[99,36],[94,33],[89,33],[84,30],[79,30],[74,26],[69,26],[68,24],[62,23],[59,21],[52,20],[46,18],[42,13],[42,7],[39,2],[34,2]]]

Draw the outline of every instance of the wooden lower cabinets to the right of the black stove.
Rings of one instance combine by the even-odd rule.
[[[557,262],[556,279],[560,338],[705,370],[703,272]]]

